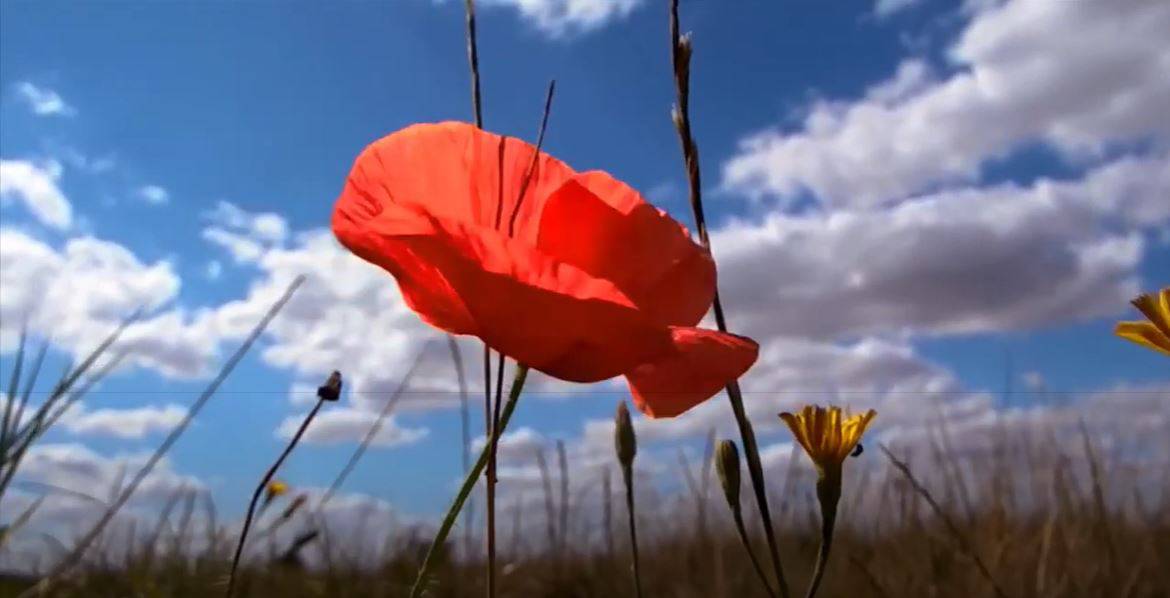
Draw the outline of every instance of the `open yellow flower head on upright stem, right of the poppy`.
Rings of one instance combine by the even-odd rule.
[[[806,406],[800,413],[780,413],[780,419],[792,429],[797,442],[804,447],[821,475],[840,474],[841,463],[861,441],[866,426],[878,412],[869,410],[860,415],[841,413],[841,407]]]

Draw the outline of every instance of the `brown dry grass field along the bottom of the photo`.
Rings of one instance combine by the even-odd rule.
[[[1027,459],[991,455],[958,459],[947,452],[918,460],[914,475],[921,490],[878,451],[851,460],[853,469],[842,502],[837,548],[820,596],[991,597],[996,590],[968,556],[986,565],[987,575],[1011,597],[1163,597],[1170,594],[1170,493],[1138,492],[1122,482],[1103,483],[1108,463],[1083,452],[1064,454],[1033,446],[1018,451]],[[1093,465],[1096,462],[1096,465]],[[1097,473],[1094,473],[1097,472]],[[972,473],[975,473],[972,475]],[[700,480],[700,483],[706,483]],[[599,484],[600,486],[600,484]],[[697,488],[697,483],[691,488]],[[959,488],[962,486],[963,488]],[[687,487],[687,486],[684,486]],[[817,515],[811,483],[798,477],[775,500],[785,508],[777,520],[779,543],[791,563],[790,583],[801,587],[817,549]],[[507,488],[507,483],[503,488]],[[937,501],[936,513],[922,493]],[[594,493],[594,496],[597,493]],[[969,503],[958,496],[968,496]],[[1155,495],[1151,497],[1151,495]],[[647,492],[639,496],[642,579],[654,597],[765,596],[730,525],[725,506],[711,496],[706,532],[696,524],[701,504],[695,490],[683,495]],[[612,500],[620,497],[614,495]],[[601,504],[571,503],[545,513],[539,501],[521,511],[521,545],[505,536],[501,550],[501,596],[620,597],[631,594],[626,542],[610,555]],[[965,507],[970,504],[970,510]],[[614,507],[619,509],[620,506]],[[172,521],[191,521],[179,501]],[[550,525],[548,517],[553,517]],[[614,517],[617,518],[617,517]],[[321,530],[308,539],[302,558],[284,557],[290,538],[274,542],[242,573],[239,596],[405,596],[413,582],[428,532],[400,528],[388,538],[346,537],[321,529],[303,514],[291,525]],[[567,523],[565,523],[567,522]],[[181,529],[145,539],[122,557],[106,545],[66,580],[54,596],[202,597],[222,591],[228,569],[230,530]],[[613,525],[620,525],[613,521]],[[570,529],[564,530],[564,525]],[[142,528],[151,528],[145,522]],[[758,550],[758,522],[749,521]],[[546,530],[555,529],[552,544]],[[564,531],[563,531],[564,530]],[[624,538],[619,528],[614,534]],[[211,548],[190,556],[179,542]],[[278,545],[277,545],[278,544]],[[170,547],[170,548],[167,548]],[[359,548],[366,547],[366,548]],[[965,547],[965,548],[964,548]],[[326,554],[328,552],[328,554]],[[187,557],[177,555],[186,554]],[[261,555],[261,556],[262,556]],[[310,563],[303,565],[297,563]],[[439,558],[429,596],[482,596],[482,561]],[[364,563],[359,565],[358,563]],[[0,596],[15,594],[27,580],[6,579]]]

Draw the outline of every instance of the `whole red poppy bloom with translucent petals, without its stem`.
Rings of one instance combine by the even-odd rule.
[[[687,229],[605,172],[543,152],[525,186],[535,151],[464,123],[402,129],[358,157],[333,233],[424,321],[555,378],[625,376],[651,417],[743,374],[755,342],[693,328],[715,263]]]

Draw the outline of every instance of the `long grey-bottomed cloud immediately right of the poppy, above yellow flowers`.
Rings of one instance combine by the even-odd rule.
[[[1124,158],[881,211],[773,212],[713,245],[732,328],[757,336],[1019,330],[1122,309],[1166,197],[1170,159]]]

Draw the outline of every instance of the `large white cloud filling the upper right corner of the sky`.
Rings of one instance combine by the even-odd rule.
[[[975,179],[989,159],[1030,142],[1069,156],[1115,142],[1165,143],[1166,30],[1166,2],[985,8],[951,50],[956,74],[895,101],[818,102],[799,131],[748,137],[723,165],[723,186],[751,197],[808,190],[828,206],[876,206]],[[899,87],[907,68],[887,85]]]

